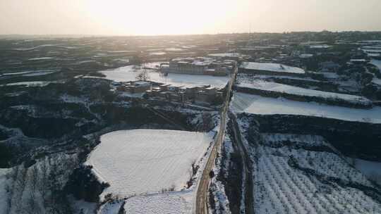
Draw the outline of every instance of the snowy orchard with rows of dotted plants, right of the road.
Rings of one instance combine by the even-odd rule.
[[[248,137],[248,127],[253,124],[245,118],[238,124],[253,160],[255,213],[381,212],[377,200],[361,188],[353,188],[360,185],[377,192],[361,172],[334,151],[303,149],[303,145],[325,145],[322,137],[258,133],[258,144],[251,140],[256,137]],[[288,141],[298,142],[301,147],[282,146]]]

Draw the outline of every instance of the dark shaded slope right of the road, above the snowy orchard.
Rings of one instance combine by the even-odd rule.
[[[345,156],[381,161],[381,125],[303,115],[248,115],[260,132],[314,134],[325,137]]]

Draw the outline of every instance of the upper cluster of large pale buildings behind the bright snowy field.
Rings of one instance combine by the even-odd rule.
[[[236,66],[234,60],[218,60],[215,58],[174,58],[167,64],[160,66],[164,75],[169,73],[186,75],[214,75],[226,76],[233,72]]]

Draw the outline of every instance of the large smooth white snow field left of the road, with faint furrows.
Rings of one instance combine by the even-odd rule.
[[[191,163],[199,160],[212,134],[176,130],[122,130],[101,137],[86,164],[111,185],[102,195],[156,193],[183,189]]]

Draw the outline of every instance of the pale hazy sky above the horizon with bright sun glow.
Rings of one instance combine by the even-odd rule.
[[[381,31],[381,0],[0,0],[0,15],[0,34]]]

